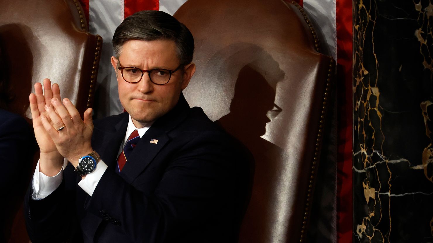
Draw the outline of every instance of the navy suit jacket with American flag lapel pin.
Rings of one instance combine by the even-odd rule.
[[[93,196],[77,186],[81,178],[70,164],[45,199],[32,200],[29,189],[32,242],[235,242],[252,158],[242,145],[181,95],[117,174],[128,120],[123,113],[94,123],[92,146],[108,169]]]

